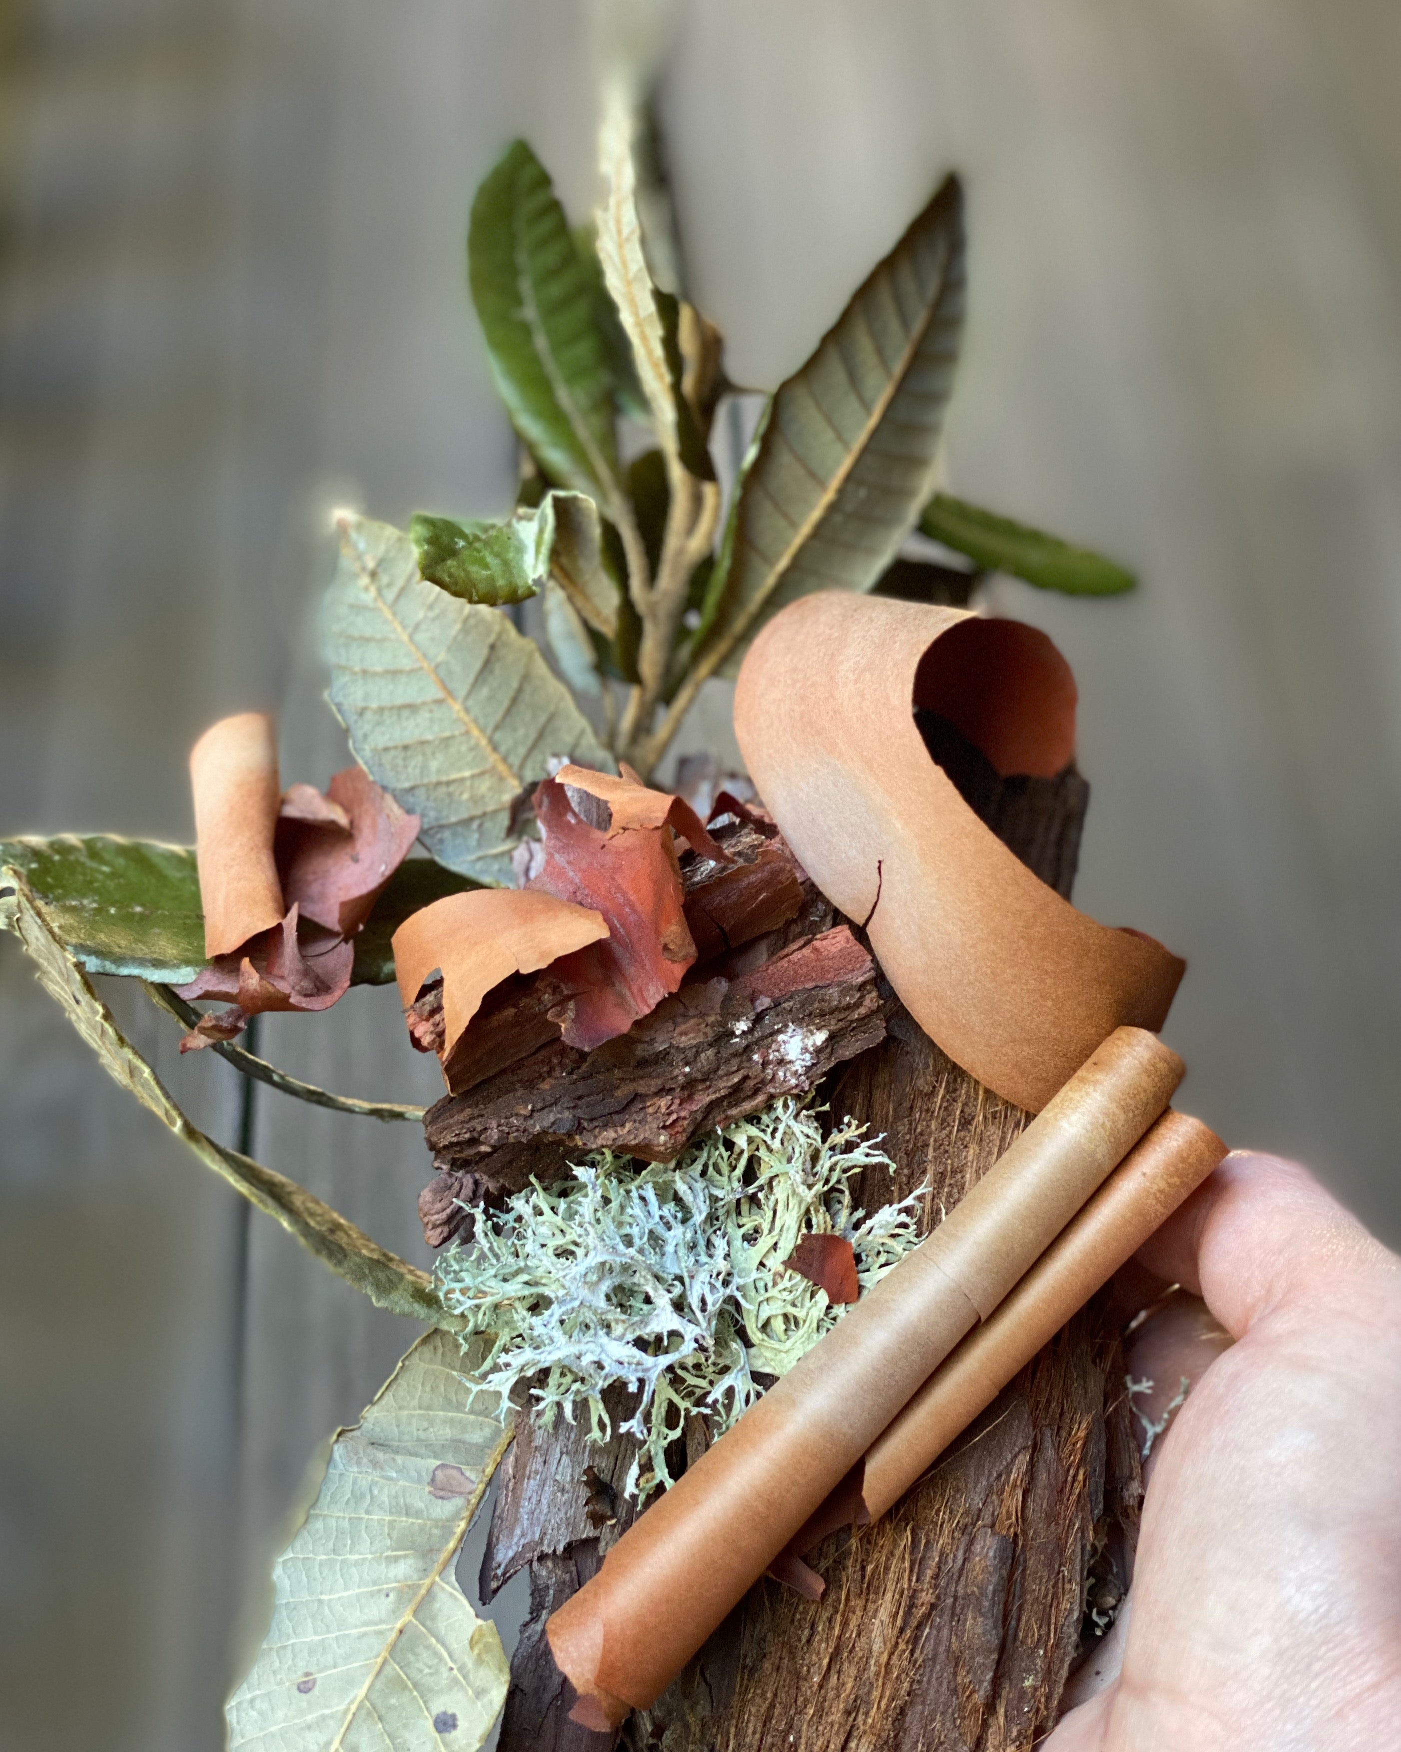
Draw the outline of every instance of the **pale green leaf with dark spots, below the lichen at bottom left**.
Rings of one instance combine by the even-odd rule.
[[[352,1430],[273,1572],[266,1642],[228,1703],[229,1752],[476,1752],[510,1664],[454,1561],[511,1440],[499,1395],[427,1333]]]

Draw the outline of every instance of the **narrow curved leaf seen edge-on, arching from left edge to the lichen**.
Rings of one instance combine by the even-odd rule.
[[[166,1086],[131,1046],[88,983],[30,890],[25,871],[0,862],[0,929],[12,930],[35,964],[39,983],[102,1060],[103,1069],[149,1107],[215,1174],[278,1221],[308,1253],[391,1314],[452,1325],[427,1277],[389,1253],[313,1193],[261,1162],[224,1149],[180,1113]]]

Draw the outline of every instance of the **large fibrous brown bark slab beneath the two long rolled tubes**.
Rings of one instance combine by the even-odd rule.
[[[1017,855],[1068,894],[1088,787],[998,780],[939,720],[932,753]],[[884,1134],[895,1184],[921,1184],[925,1228],[1002,1155],[1028,1114],[1000,1100],[897,1011],[888,1039],[832,1079],[832,1113]],[[665,1752],[1023,1752],[1056,1719],[1088,1582],[1123,1589],[1138,1461],[1117,1340],[1091,1307],[883,1521],[814,1554],[813,1603],[764,1580],[655,1710],[623,1729]],[[1109,1403],[1109,1421],[1105,1417]]]

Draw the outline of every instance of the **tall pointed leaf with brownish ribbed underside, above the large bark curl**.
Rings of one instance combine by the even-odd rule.
[[[755,434],[715,575],[715,669],[807,590],[869,590],[930,496],[963,324],[963,194],[949,177]]]

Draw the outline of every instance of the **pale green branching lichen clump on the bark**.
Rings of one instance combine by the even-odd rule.
[[[587,1407],[595,1442],[611,1433],[604,1389],[625,1384],[637,1400],[622,1428],[643,1444],[625,1489],[669,1486],[665,1451],[692,1412],[727,1430],[758,1398],[757,1374],[790,1370],[842,1316],[785,1268],[802,1235],[844,1235],[862,1293],[918,1244],[923,1190],[874,1216],[853,1207],[851,1177],[891,1169],[862,1132],[848,1121],[823,1137],[785,1097],[676,1162],[599,1151],[511,1197],[436,1272],[469,1333],[494,1339],[485,1384],[510,1393],[534,1377],[545,1419]]]

